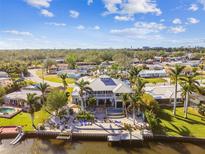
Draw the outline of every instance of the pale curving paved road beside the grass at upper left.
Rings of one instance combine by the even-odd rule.
[[[28,71],[30,73],[30,77],[27,77],[27,79],[34,81],[34,82],[38,82],[38,83],[43,82],[43,80],[41,78],[39,78],[38,75],[36,74],[37,69],[29,69]],[[51,82],[51,81],[47,81],[47,80],[44,80],[44,82],[46,82],[51,87],[63,86],[62,83]]]

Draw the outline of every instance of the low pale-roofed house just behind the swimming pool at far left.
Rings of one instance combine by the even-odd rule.
[[[35,86],[27,86],[22,88],[20,91],[15,91],[4,96],[4,104],[9,106],[16,106],[27,108],[25,100],[27,99],[27,94],[35,93],[37,96],[41,96],[41,91],[36,89]]]

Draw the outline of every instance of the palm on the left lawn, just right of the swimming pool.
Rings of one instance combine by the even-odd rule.
[[[36,126],[34,124],[34,113],[37,111],[40,111],[41,109],[41,104],[39,103],[39,97],[33,93],[33,94],[27,94],[27,99],[25,102],[29,105],[29,114],[31,116],[31,121],[32,121],[32,126],[34,129],[36,129]]]

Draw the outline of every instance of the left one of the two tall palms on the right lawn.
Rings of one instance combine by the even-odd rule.
[[[175,82],[175,91],[174,91],[174,108],[173,114],[176,115],[176,104],[177,104],[177,88],[178,88],[178,78],[182,71],[184,70],[185,66],[175,65],[174,68],[170,68],[170,77]]]

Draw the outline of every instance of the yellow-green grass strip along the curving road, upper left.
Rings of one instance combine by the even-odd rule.
[[[40,78],[42,78],[42,71],[41,71],[41,70],[36,71],[36,74],[37,74]],[[59,78],[57,75],[45,75],[45,76],[44,76],[44,79],[47,80],[47,81],[51,81],[51,82],[62,83],[61,78]],[[72,84],[72,83],[75,82],[75,79],[67,78],[66,81],[67,81],[68,84]]]

